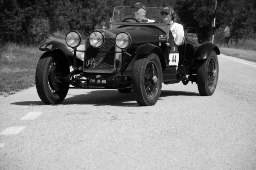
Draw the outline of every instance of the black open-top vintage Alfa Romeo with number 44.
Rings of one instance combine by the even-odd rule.
[[[146,17],[155,22],[145,23],[133,18],[130,7],[115,7],[109,29],[103,26],[90,33],[84,50],[77,49],[81,44],[77,31],[66,36],[72,51],[57,41],[41,45],[46,52],[35,75],[40,99],[59,104],[69,88],[114,88],[121,93],[133,90],[139,105],[150,106],[159,99],[162,83],[180,81],[195,82],[201,95],[212,95],[218,81],[219,48],[211,42],[199,45],[186,31],[183,43],[176,45],[170,24],[162,22],[162,9],[147,7]],[[84,52],[83,59],[78,52]]]

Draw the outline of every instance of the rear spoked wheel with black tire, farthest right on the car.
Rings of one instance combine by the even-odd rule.
[[[211,96],[218,82],[218,57],[212,51],[197,70],[198,91],[202,96]]]

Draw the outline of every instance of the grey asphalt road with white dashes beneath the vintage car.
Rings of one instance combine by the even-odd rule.
[[[212,96],[180,82],[150,107],[105,89],[70,89],[60,105],[35,87],[1,98],[0,169],[255,170],[256,63],[218,59]]]

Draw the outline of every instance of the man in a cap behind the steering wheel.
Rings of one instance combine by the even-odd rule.
[[[154,20],[149,20],[145,17],[146,6],[143,3],[135,3],[131,6],[134,9],[134,18],[142,23],[153,23]]]

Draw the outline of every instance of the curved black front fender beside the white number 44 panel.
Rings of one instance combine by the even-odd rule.
[[[141,45],[137,48],[135,54],[137,54],[136,56],[138,56],[138,54],[148,54],[150,52],[154,52],[155,54],[157,54],[162,65],[162,70],[164,71],[166,69],[165,57],[161,48],[157,47],[156,45],[150,43]]]

